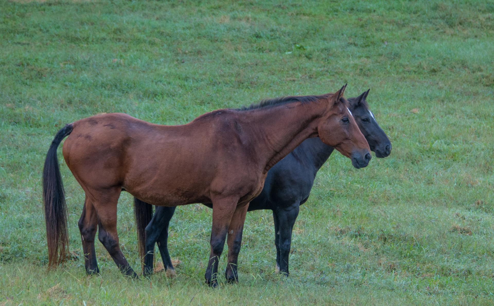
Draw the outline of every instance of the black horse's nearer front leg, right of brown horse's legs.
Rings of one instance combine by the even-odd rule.
[[[288,276],[288,258],[290,255],[291,247],[291,231],[293,230],[293,225],[298,216],[298,211],[300,205],[294,203],[286,209],[279,209],[277,212],[278,222],[280,227],[280,273]]]

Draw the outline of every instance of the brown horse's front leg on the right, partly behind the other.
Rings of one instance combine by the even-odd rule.
[[[226,266],[225,277],[229,283],[239,282],[237,262],[242,244],[242,232],[244,230],[247,208],[248,203],[243,207],[237,207],[235,209],[230,227],[228,228],[228,264]]]

